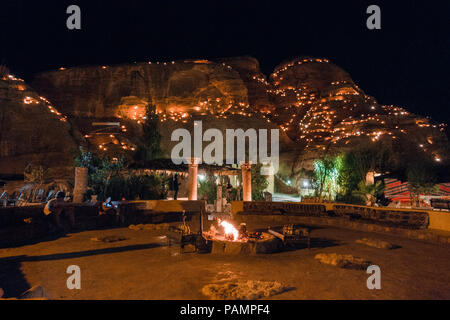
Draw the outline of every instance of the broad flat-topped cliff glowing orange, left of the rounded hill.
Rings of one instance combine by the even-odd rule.
[[[156,105],[161,145],[170,157],[177,143],[172,132],[192,132],[195,120],[202,120],[203,131],[217,128],[223,136],[226,129],[278,129],[265,112],[274,110],[270,92],[254,77],[263,77],[259,63],[244,57],[62,68],[38,75],[33,85],[61,106],[92,146],[112,154],[135,149],[145,109]],[[120,127],[98,132],[93,126],[114,121]],[[283,132],[280,140],[286,151],[295,147]]]

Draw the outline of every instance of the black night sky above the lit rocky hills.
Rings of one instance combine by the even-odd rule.
[[[82,30],[66,28],[78,4]],[[366,8],[381,8],[381,30]],[[0,2],[0,62],[31,80],[89,64],[251,55],[268,75],[285,59],[325,57],[380,103],[449,123],[450,1]]]

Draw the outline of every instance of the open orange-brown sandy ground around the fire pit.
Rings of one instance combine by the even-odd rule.
[[[270,299],[450,299],[450,250],[404,238],[336,228],[312,231],[313,248],[253,256],[180,254],[163,231],[85,231],[53,241],[0,249],[0,287],[16,297],[42,285],[51,299],[207,299],[203,286],[232,280],[278,281],[291,289]],[[91,238],[121,236],[105,243]],[[401,248],[377,249],[370,237]],[[365,270],[321,264],[317,253],[352,254],[381,268],[381,290],[369,290]],[[66,286],[70,265],[81,289]]]

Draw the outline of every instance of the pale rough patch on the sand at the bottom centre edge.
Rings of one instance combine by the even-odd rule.
[[[202,293],[213,300],[255,300],[280,294],[289,288],[277,281],[246,280],[208,284]]]

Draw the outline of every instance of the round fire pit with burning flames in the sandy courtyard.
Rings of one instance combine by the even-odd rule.
[[[212,242],[211,253],[216,254],[255,254],[278,252],[283,243],[277,237],[266,232],[248,232],[246,225],[239,229],[225,220],[217,220],[218,226],[211,225],[203,237]]]

